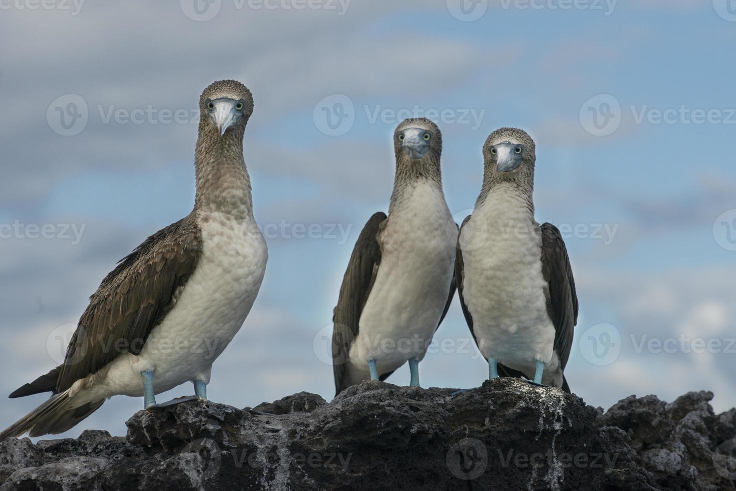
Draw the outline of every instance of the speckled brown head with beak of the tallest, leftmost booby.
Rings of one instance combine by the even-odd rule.
[[[253,113],[253,96],[237,80],[214,82],[199,97],[199,131],[242,135]]]

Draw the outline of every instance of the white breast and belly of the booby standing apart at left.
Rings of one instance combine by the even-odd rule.
[[[155,392],[210,381],[213,362],[238,333],[261,288],[268,253],[261,231],[222,213],[201,214],[202,255],[174,308],[138,356],[118,356],[97,395],[143,395],[141,371],[153,370]]]

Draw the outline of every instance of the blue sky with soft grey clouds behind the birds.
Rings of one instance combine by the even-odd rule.
[[[461,3],[461,1],[463,3]],[[197,3],[195,3],[197,2]],[[211,400],[334,394],[353,244],[392,191],[392,134],[435,119],[450,211],[499,127],[537,144],[538,222],[565,236],[580,316],[565,374],[592,406],[711,390],[736,406],[733,0],[0,0],[0,395],[63,360],[99,282],[194,203],[199,94],[247,85],[269,246]],[[478,386],[456,298],[422,385]],[[391,378],[408,384],[408,367]],[[191,395],[185,384],[159,401]],[[6,427],[45,400],[0,405]],[[124,435],[118,396],[61,437]]]

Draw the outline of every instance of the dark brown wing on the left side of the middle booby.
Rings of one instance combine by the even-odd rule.
[[[381,245],[378,232],[386,220],[379,211],[370,217],[353,247],[350,262],[342,278],[340,295],[333,314],[332,355],[336,395],[347,388],[347,361],[350,345],[358,336],[358,322],[375,282],[375,273],[381,264]]]

